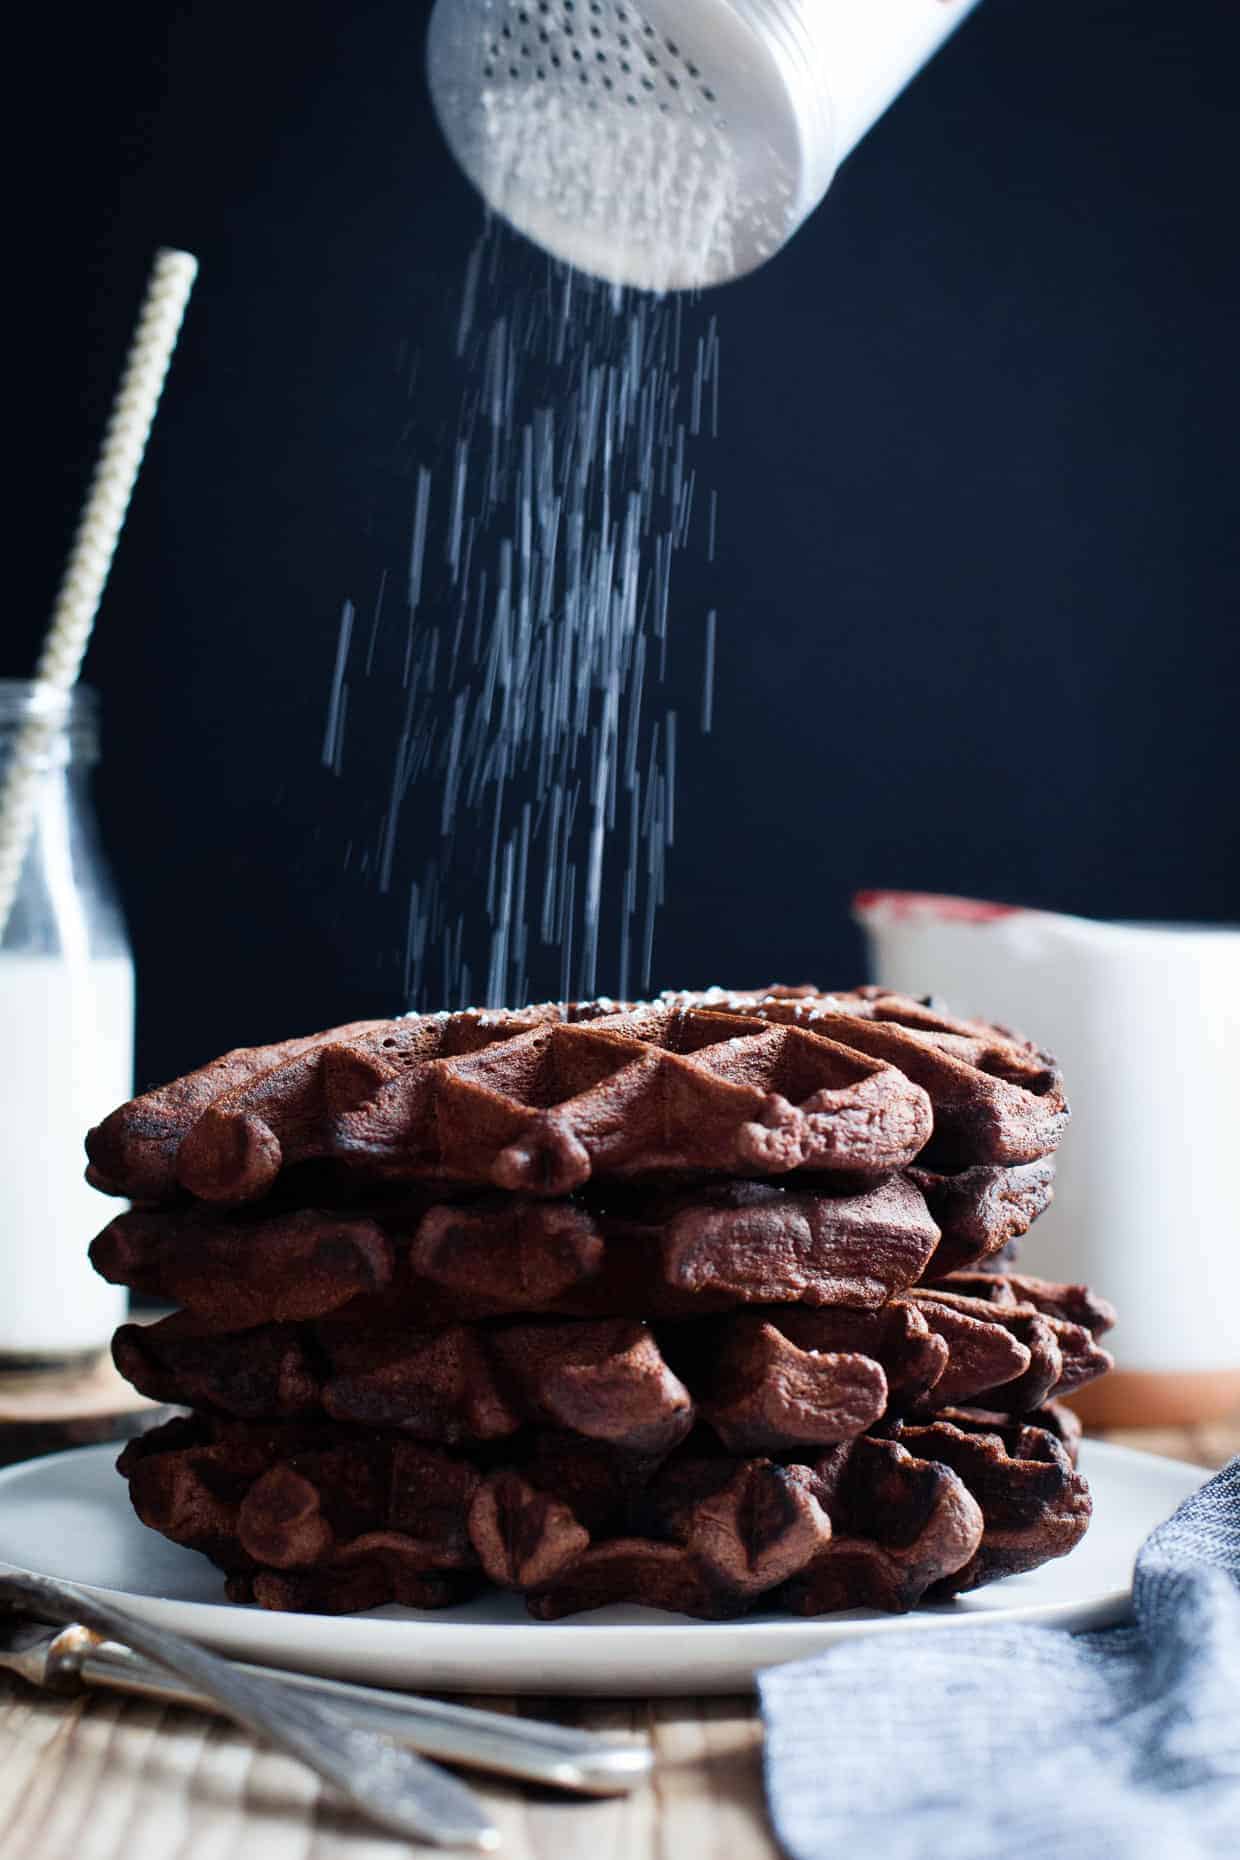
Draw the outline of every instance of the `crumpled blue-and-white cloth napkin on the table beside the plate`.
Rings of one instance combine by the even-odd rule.
[[[1240,1458],[1145,1542],[1134,1626],[870,1635],[762,1674],[794,1860],[1240,1860]]]

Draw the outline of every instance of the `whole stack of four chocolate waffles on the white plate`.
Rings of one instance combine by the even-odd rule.
[[[1054,1064],[877,990],[340,1027],[113,1112],[138,1514],[234,1600],[909,1609],[1089,1521]]]

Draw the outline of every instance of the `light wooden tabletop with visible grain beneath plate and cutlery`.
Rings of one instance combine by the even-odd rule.
[[[1221,1466],[1240,1453],[1240,1417],[1104,1438]],[[651,1786],[615,1802],[584,1804],[480,1778],[511,1860],[777,1860],[749,1698],[485,1704],[597,1730],[643,1730],[658,1754]],[[216,1719],[106,1694],[59,1700],[0,1676],[0,1860],[394,1860],[402,1853],[411,1853],[407,1843],[323,1802],[297,1763]]]

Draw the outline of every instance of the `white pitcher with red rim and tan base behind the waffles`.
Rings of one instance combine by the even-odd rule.
[[[1104,1425],[1240,1406],[1240,928],[1095,923],[863,893],[872,976],[1015,1027],[1063,1068],[1073,1122],[1021,1269],[1119,1309]]]

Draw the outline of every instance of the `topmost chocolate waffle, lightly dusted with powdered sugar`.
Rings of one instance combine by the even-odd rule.
[[[238,1205],[297,1164],[563,1196],[586,1181],[1030,1162],[1067,1107],[1047,1055],[879,990],[359,1021],[242,1047],[87,1138],[110,1194]]]

